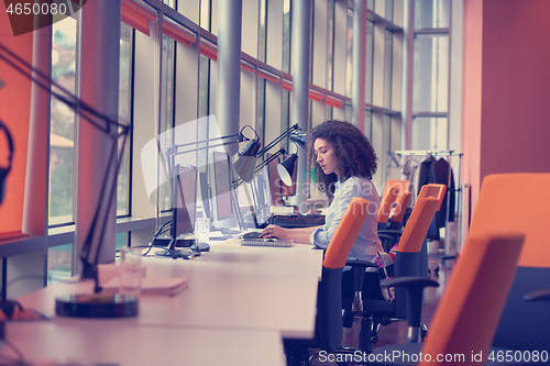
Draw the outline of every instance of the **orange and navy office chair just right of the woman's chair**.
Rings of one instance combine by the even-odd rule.
[[[395,278],[419,276],[420,248],[438,207],[439,200],[433,197],[421,197],[416,201],[397,244],[394,265]],[[349,260],[348,265],[355,268],[358,266],[354,260]],[[359,263],[360,268],[364,265],[364,263]],[[378,274],[365,273],[364,267],[360,271],[364,275],[363,286],[361,287],[364,309],[359,344],[361,351],[371,352],[373,350],[372,344],[377,342],[377,331],[381,324],[388,324],[389,319],[406,319],[406,293],[403,289],[396,288],[395,300],[387,301],[380,288]]]

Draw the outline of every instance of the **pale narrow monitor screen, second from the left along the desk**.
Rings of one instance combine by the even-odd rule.
[[[231,175],[228,154],[212,152],[213,166],[213,202],[218,221],[231,219],[233,207],[231,204]]]

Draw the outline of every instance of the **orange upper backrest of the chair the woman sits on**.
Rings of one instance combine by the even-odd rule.
[[[329,247],[324,253],[323,267],[343,268],[351,247],[361,231],[361,226],[369,213],[371,202],[364,198],[354,197],[351,199],[342,220],[332,235]]]

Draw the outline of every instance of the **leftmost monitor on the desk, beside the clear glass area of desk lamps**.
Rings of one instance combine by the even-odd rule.
[[[174,173],[172,237],[193,233],[197,199],[197,168],[176,165]]]

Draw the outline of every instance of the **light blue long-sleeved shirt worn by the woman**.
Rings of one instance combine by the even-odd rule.
[[[338,181],[336,184],[334,199],[330,203],[324,225],[311,233],[309,242],[320,248],[327,248],[345,209],[354,197],[364,198],[372,204],[369,206],[365,222],[348,258],[375,262],[376,253],[383,252],[377,231],[380,197],[374,184],[366,178],[350,177],[344,182]]]

